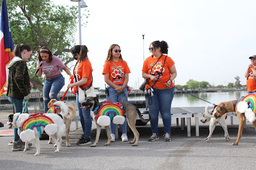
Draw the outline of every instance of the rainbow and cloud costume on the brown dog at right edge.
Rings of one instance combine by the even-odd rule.
[[[237,111],[244,113],[250,123],[256,120],[256,94],[251,93],[243,97],[237,104]]]

